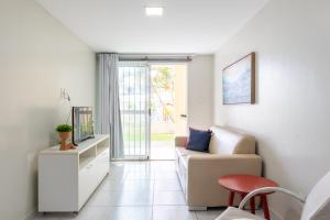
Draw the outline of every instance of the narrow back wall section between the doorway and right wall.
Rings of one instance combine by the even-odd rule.
[[[188,127],[213,124],[213,55],[197,55],[188,63]]]

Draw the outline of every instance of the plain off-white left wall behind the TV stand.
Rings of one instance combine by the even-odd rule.
[[[36,208],[37,153],[73,105],[95,103],[95,54],[33,0],[0,1],[0,219]]]

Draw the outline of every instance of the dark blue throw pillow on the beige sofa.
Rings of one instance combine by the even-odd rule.
[[[208,152],[212,131],[201,131],[189,128],[189,132],[187,150]]]

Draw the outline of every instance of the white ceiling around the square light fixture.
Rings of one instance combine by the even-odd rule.
[[[154,18],[154,0],[37,0],[95,51],[120,53],[212,53],[266,1],[163,0]]]

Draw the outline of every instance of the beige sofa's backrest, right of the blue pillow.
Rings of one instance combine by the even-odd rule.
[[[212,127],[209,145],[211,154],[255,154],[255,139],[223,127]]]

